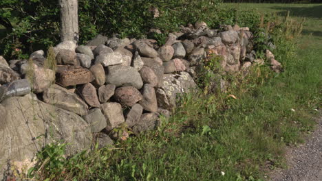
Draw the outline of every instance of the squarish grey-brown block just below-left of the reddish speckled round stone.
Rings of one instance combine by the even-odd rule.
[[[110,131],[125,122],[122,106],[116,102],[108,102],[100,105],[105,119],[107,120],[106,130]]]

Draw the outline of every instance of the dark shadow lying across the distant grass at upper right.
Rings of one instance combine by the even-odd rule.
[[[322,5],[316,5],[312,7],[274,7],[272,9],[275,10],[283,10],[283,12],[279,12],[280,16],[286,16],[287,12],[290,11],[290,16],[300,16],[306,18],[322,18]]]

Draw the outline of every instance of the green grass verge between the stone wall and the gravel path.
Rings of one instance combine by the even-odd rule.
[[[254,67],[248,76],[233,79],[235,86],[228,94],[186,95],[182,106],[169,120],[163,119],[158,130],[112,148],[52,160],[50,167],[43,165],[30,175],[39,180],[266,180],[268,169],[283,167],[286,145],[301,143],[303,134],[313,130],[314,109],[321,106],[321,6],[239,7],[269,12],[303,8],[296,12],[306,17],[296,54],[286,53],[291,45],[285,42],[275,51],[283,73]],[[63,147],[46,149],[61,153]]]

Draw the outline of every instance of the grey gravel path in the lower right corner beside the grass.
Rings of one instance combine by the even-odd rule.
[[[316,131],[308,140],[288,150],[286,159],[289,168],[276,170],[272,181],[322,181],[322,116],[317,120]]]

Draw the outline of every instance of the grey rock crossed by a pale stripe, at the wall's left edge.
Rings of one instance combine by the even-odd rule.
[[[8,97],[23,96],[31,92],[28,80],[14,80],[8,84],[0,86],[0,101]]]

